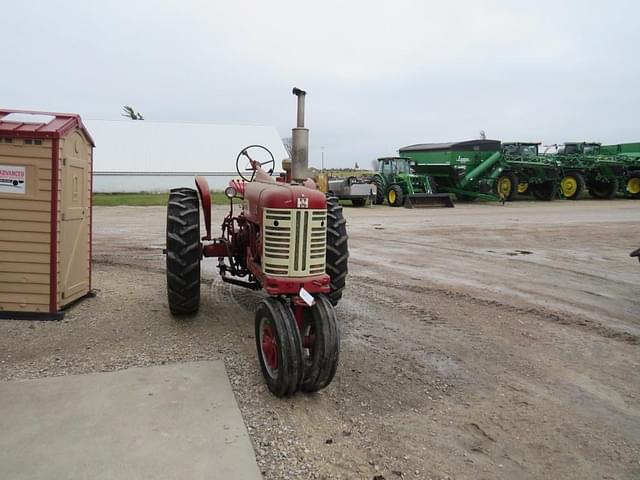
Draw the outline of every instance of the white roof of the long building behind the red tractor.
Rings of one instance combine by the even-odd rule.
[[[96,143],[96,173],[235,172],[240,150],[254,144],[271,150],[277,171],[288,157],[275,127],[148,120],[87,120],[84,124]]]

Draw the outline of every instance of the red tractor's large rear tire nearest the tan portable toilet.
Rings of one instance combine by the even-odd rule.
[[[176,188],[167,204],[167,297],[173,315],[200,306],[200,203],[192,188]]]

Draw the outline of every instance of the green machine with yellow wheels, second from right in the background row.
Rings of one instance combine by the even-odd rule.
[[[617,156],[602,155],[595,142],[566,142],[548,158],[562,171],[560,192],[571,200],[585,190],[594,198],[613,198],[629,177],[627,165]]]

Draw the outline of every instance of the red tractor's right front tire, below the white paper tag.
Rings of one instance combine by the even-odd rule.
[[[338,369],[340,330],[336,312],[325,295],[316,295],[315,300],[313,307],[305,308],[302,320],[303,392],[323,389]]]

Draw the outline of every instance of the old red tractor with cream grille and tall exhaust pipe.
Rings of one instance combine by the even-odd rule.
[[[242,149],[236,158],[242,180],[232,180],[225,190],[230,211],[219,237],[211,233],[211,197],[203,177],[195,179],[197,191],[171,190],[167,208],[171,313],[197,312],[203,257],[218,259],[223,281],[264,290],[267,297],[255,314],[256,347],[267,386],[278,397],[315,392],[333,379],[340,346],[334,306],[342,296],[349,257],[342,207],[307,178],[306,92],[294,88],[293,94],[298,118],[285,175],[271,176],[275,160],[267,148]],[[234,197],[242,199],[237,214]]]

